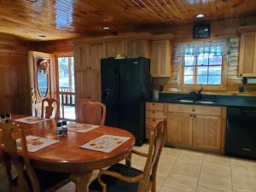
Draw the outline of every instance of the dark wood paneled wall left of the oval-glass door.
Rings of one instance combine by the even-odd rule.
[[[0,113],[29,114],[27,51],[32,44],[0,34]]]

